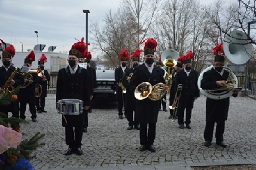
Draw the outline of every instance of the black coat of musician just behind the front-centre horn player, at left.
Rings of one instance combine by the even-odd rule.
[[[129,89],[129,82],[126,80],[126,76],[133,73],[133,68],[129,68],[123,75],[121,82],[123,86],[126,88],[126,95],[125,95],[125,109],[135,110],[136,106],[136,98],[134,96],[134,91]]]

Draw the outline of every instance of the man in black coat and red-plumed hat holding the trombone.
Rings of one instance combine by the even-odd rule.
[[[176,97],[179,100],[178,106],[178,124],[181,129],[184,128],[184,111],[186,109],[186,119],[185,124],[188,129],[190,127],[190,119],[192,114],[192,108],[194,100],[200,96],[199,89],[197,87],[198,73],[197,71],[191,69],[192,58],[194,57],[192,51],[189,51],[184,57],[184,69],[177,72],[175,78],[175,88],[177,91],[178,85],[182,84],[182,90],[180,97]]]

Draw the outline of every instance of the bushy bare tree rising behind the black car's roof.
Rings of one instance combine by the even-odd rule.
[[[99,30],[97,23],[93,23],[93,29],[90,31],[94,36],[94,45],[100,49],[109,65],[117,67],[118,55],[122,48],[132,51],[136,39],[136,20],[129,10],[118,10],[112,14],[111,10],[106,14],[104,20],[105,26]],[[110,61],[110,62],[109,62]]]

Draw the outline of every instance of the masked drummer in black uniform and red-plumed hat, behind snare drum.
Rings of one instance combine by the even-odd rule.
[[[79,41],[73,44],[69,51],[69,66],[59,70],[57,78],[56,101],[60,99],[80,99],[83,101],[83,113],[80,115],[62,116],[62,126],[65,127],[65,140],[69,148],[64,155],[70,155],[73,152],[82,155],[81,141],[83,136],[84,112],[90,107],[90,75],[88,71],[80,67],[78,62],[79,51],[85,51],[85,44]],[[73,127],[75,127],[75,134]]]

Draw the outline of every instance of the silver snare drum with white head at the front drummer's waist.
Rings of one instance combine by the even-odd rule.
[[[79,99],[61,99],[56,103],[56,109],[62,115],[81,115],[83,101]]]

